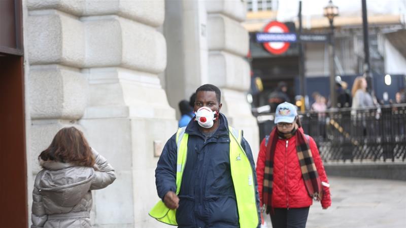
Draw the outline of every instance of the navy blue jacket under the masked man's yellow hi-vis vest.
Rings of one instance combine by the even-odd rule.
[[[186,166],[183,173],[176,220],[181,228],[240,227],[234,186],[230,171],[230,137],[228,122],[220,113],[220,124],[212,137],[205,140],[196,121],[186,127],[189,134]],[[155,170],[158,196],[176,192],[176,134],[165,144]],[[251,148],[243,138],[242,147],[253,168],[255,189],[257,180]],[[256,191],[259,212],[259,195]],[[259,213],[258,213],[259,216]],[[260,221],[260,217],[259,217]]]

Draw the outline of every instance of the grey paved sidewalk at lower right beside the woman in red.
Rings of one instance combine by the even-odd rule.
[[[314,202],[307,227],[406,228],[406,181],[329,176],[329,182],[332,206]]]

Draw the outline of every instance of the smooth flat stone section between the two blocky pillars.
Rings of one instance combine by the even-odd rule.
[[[197,87],[208,83],[205,1],[171,0],[165,13],[163,33],[170,44],[165,90],[170,105],[179,112],[179,101],[189,100]]]

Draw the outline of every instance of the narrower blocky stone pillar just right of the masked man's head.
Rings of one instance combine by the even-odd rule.
[[[249,50],[248,31],[241,25],[246,17],[246,2],[208,1],[207,34],[209,82],[222,91],[222,112],[230,125],[244,130],[256,161],[259,132],[246,99],[250,88],[250,66],[244,59]]]

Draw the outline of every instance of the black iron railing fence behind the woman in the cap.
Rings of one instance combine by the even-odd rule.
[[[406,159],[406,104],[301,113],[326,162],[401,161]],[[262,139],[274,128],[272,114],[259,115]]]

